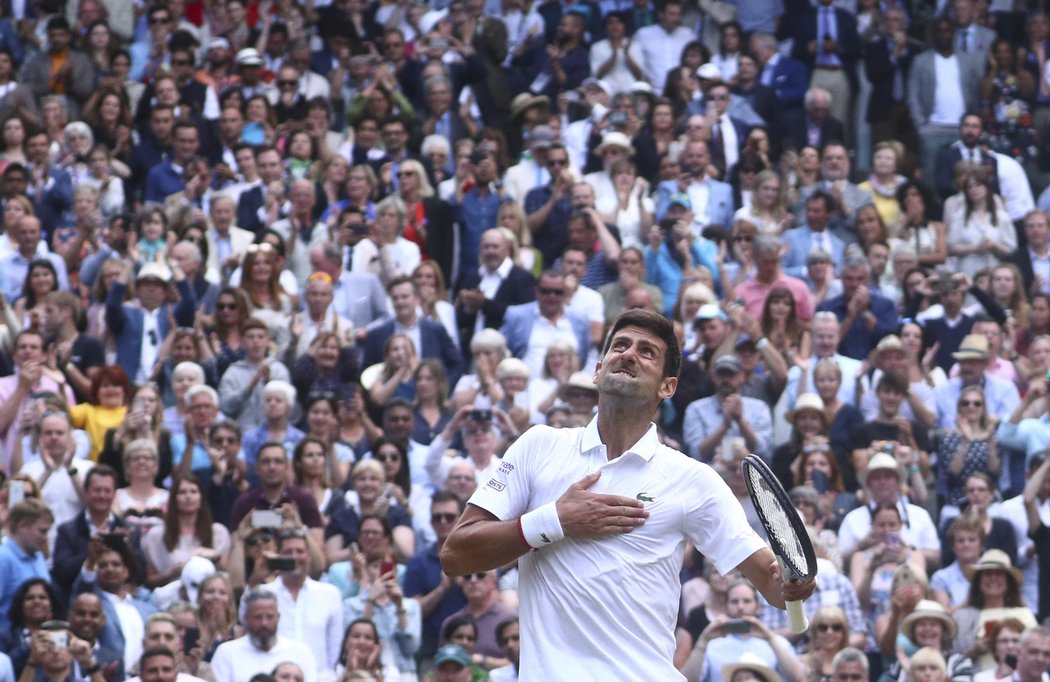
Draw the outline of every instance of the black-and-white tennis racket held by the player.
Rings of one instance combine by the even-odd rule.
[[[770,536],[773,553],[780,559],[784,581],[812,579],[817,575],[817,554],[788,491],[758,455],[749,454],[740,466],[748,494]],[[789,601],[785,606],[792,631],[800,635],[808,630],[802,602]]]

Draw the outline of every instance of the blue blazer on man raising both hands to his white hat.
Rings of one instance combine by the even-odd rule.
[[[165,303],[158,315],[156,325],[161,333],[158,345],[164,342],[168,332],[171,331],[170,317],[175,318],[176,326],[193,326],[193,317],[196,313],[196,295],[193,293],[193,287],[189,280],[184,278],[175,282],[175,289],[178,290],[178,302],[174,306]],[[106,326],[117,338],[117,364],[127,374],[128,379],[134,381],[139,374],[139,364],[142,362],[142,328],[145,313],[140,307],[124,303],[126,290],[127,285],[121,282],[116,282],[110,287],[106,297]]]

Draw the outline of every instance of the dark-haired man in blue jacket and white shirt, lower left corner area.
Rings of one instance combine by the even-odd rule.
[[[106,623],[99,635],[99,644],[124,652],[124,669],[139,661],[146,619],[156,613],[149,592],[142,590],[142,594],[136,594],[132,590],[132,584],[143,577],[138,572],[138,562],[123,537],[97,535],[88,540],[87,560],[72,588],[75,595],[90,592],[102,601]],[[131,609],[118,611],[117,604]]]

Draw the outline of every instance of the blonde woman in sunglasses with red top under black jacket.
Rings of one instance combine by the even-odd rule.
[[[404,203],[405,212],[401,236],[419,247],[423,260],[435,260],[445,280],[449,280],[456,242],[452,208],[437,196],[426,170],[418,161],[401,162],[397,179],[398,196]],[[472,237],[480,235],[462,235],[463,241]]]

